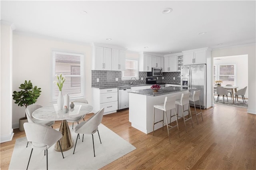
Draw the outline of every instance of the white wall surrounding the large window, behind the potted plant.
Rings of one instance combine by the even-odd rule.
[[[52,50],[77,52],[84,54],[85,98],[90,103],[91,93],[91,58],[92,47],[88,44],[65,42],[50,38],[22,35],[14,32],[13,35],[13,91],[25,80],[31,80],[33,86],[41,87],[41,95],[36,103],[49,105],[52,102]],[[13,101],[14,102],[14,101]],[[25,107],[12,104],[13,128],[18,128],[18,120],[25,116]]]

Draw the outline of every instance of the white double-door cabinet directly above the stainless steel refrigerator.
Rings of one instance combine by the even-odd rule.
[[[183,65],[206,64],[206,49],[197,49],[182,52],[184,61]]]

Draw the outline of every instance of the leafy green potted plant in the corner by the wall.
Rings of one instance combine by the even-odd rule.
[[[14,91],[12,95],[12,99],[15,100],[14,103],[18,104],[18,106],[25,106],[27,108],[28,105],[32,105],[36,103],[36,100],[40,96],[41,88],[37,88],[37,86],[33,87],[31,81],[26,81],[24,84],[21,84],[19,89],[21,91]],[[28,122],[26,113],[25,117],[19,119],[19,130],[24,131],[23,123]]]

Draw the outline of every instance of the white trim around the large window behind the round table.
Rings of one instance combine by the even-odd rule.
[[[81,97],[84,97],[84,80],[85,80],[85,74],[84,74],[84,54],[82,53],[77,53],[77,52],[68,52],[68,51],[58,51],[58,50],[52,50],[52,82],[55,80],[55,68],[56,68],[56,64],[55,64],[55,59],[56,59],[56,53],[58,54],[64,54],[64,55],[76,55],[76,56],[80,56],[80,76],[74,76],[74,77],[81,77],[81,93],[76,95],[76,96],[70,96],[70,99],[78,99]],[[64,76],[70,76],[70,75],[64,75]],[[57,101],[58,97],[54,96],[54,86],[56,86],[56,84],[52,83],[52,101]]]

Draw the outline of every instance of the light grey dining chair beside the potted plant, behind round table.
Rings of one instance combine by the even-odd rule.
[[[37,124],[40,124],[40,125],[45,125],[45,126],[48,126],[48,127],[52,127],[52,125],[54,124],[54,121],[41,121],[41,120],[38,120],[38,119],[35,119],[34,117],[32,117],[32,113],[36,109],[39,109],[41,107],[42,107],[42,105],[32,104],[32,105],[29,105],[26,108],[25,112],[26,112],[26,116],[28,118],[28,122],[29,123],[37,123]],[[27,143],[26,147],[28,147],[28,143]]]

